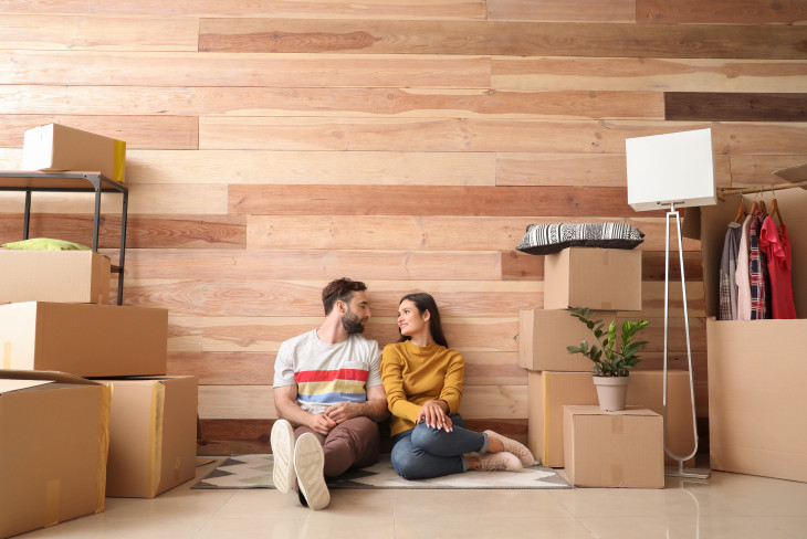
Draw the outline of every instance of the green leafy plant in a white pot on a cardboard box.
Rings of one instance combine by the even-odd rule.
[[[617,340],[617,324],[611,321],[607,329],[602,320],[594,320],[591,310],[570,307],[572,316],[585,324],[594,334],[597,344],[588,345],[586,339],[580,346],[569,346],[569,353],[583,353],[594,362],[594,383],[597,387],[599,408],[605,411],[625,410],[628,397],[628,377],[641,359],[637,351],[647,341],[633,341],[636,334],[644,329],[648,320],[622,323],[622,331]]]

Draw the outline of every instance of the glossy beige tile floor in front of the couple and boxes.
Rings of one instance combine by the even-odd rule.
[[[197,468],[203,477],[214,464]],[[25,533],[42,538],[807,538],[807,484],[713,472],[664,489],[332,490],[312,511],[276,490],[107,498],[106,510]]]

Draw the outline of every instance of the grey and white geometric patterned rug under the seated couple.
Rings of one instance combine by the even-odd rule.
[[[467,472],[433,479],[407,480],[400,477],[389,454],[378,464],[353,469],[329,488],[572,488],[554,469],[531,466],[521,472]],[[272,455],[233,455],[219,464],[191,488],[274,488]]]

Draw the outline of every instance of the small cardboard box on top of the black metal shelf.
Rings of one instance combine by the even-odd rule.
[[[126,142],[59,124],[25,131],[22,168],[54,172],[99,171],[111,180],[124,181]]]

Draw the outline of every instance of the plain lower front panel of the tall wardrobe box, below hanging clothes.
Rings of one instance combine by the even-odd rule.
[[[807,320],[706,320],[712,469],[807,482]]]

